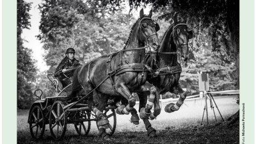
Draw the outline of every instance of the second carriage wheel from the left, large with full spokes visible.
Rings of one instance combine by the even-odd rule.
[[[52,104],[49,116],[49,127],[52,138],[55,140],[63,138],[67,129],[67,116],[63,108],[64,104],[61,101],[56,101]]]

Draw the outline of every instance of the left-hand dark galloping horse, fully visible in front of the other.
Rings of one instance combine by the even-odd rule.
[[[150,90],[150,93],[156,93],[155,115],[161,111],[159,91],[152,84],[145,84],[148,76],[147,68],[145,68],[145,48],[149,47],[150,51],[157,51],[159,48],[159,38],[156,33],[156,26],[158,25],[154,23],[151,17],[152,10],[146,16],[142,9],[140,19],[132,26],[129,39],[122,51],[101,56],[90,63],[86,63],[83,67],[77,68],[74,72],[72,93],[68,97],[75,97],[82,86],[88,97],[88,106],[100,118],[97,124],[102,138],[109,138],[104,126],[108,124],[108,120],[106,116],[102,115],[104,104],[108,102],[106,95],[122,95],[128,100],[127,106],[119,108],[119,110],[120,113],[124,114],[131,112],[131,120],[135,124],[140,118],[136,109],[133,108],[136,99],[131,92],[136,92],[142,88]],[[100,99],[97,107],[93,102],[93,97]]]

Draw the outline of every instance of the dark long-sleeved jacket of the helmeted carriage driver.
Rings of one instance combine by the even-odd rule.
[[[69,68],[78,67],[79,65],[81,65],[81,63],[79,63],[79,61],[78,61],[76,58],[74,58],[73,62],[70,63],[70,62],[68,61],[67,56],[66,56],[65,58],[63,58],[63,60],[61,60],[60,64],[59,64],[58,67],[56,68],[55,73],[54,73],[54,77],[60,77],[60,76],[61,76],[61,73],[62,73],[62,70],[63,70],[64,68],[69,69]],[[63,77],[63,76],[61,76],[61,77]],[[64,78],[64,77],[63,77],[63,78]]]

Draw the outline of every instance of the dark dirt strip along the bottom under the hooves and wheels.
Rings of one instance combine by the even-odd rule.
[[[232,127],[223,124],[209,125],[205,127],[184,127],[181,129],[165,129],[157,132],[156,138],[149,138],[145,131],[116,132],[111,140],[102,140],[96,134],[83,136],[65,136],[61,141],[52,140],[47,136],[44,140],[33,141],[22,139],[18,136],[18,143],[239,143],[239,124]]]

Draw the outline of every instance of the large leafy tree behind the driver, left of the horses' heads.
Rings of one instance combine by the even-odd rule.
[[[135,21],[122,8],[113,1],[44,1],[38,38],[44,43],[48,72],[54,72],[67,47],[76,49],[82,63],[122,49],[131,28],[127,20]]]

